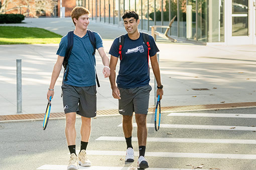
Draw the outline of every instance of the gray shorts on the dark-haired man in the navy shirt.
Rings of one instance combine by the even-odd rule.
[[[149,96],[152,90],[150,85],[135,88],[118,88],[121,97],[121,99],[118,99],[120,114],[133,115],[134,111],[136,114],[148,114]]]

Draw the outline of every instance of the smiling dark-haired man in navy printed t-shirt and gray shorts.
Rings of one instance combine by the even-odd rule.
[[[125,161],[134,161],[132,145],[133,112],[137,122],[137,137],[139,143],[138,169],[149,167],[145,159],[147,143],[147,114],[151,91],[149,59],[157,80],[157,95],[162,99],[163,85],[157,60],[159,51],[153,36],[139,32],[139,15],[135,11],[126,11],[123,16],[126,34],[114,39],[109,50],[110,84],[112,95],[118,99],[119,113],[122,114],[122,127],[126,140]],[[145,42],[144,37],[147,37]],[[120,43],[122,41],[123,43]],[[149,43],[148,43],[149,42]],[[146,44],[147,43],[147,44]],[[115,83],[115,67],[120,58],[120,68]]]

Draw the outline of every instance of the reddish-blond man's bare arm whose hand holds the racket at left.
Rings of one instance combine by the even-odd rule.
[[[57,78],[60,75],[63,60],[64,60],[64,57],[58,55],[57,61],[54,65],[53,71],[52,71],[52,78],[51,78],[51,83],[50,83],[50,86],[49,86],[50,89],[54,89],[55,82],[56,82]],[[54,95],[54,91],[53,90],[48,90],[47,99],[49,100],[50,96],[53,97],[53,95]]]

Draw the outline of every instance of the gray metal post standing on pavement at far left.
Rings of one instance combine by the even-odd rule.
[[[22,70],[21,59],[16,59],[17,113],[22,113]]]

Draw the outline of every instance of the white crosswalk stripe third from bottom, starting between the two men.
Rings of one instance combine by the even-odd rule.
[[[125,141],[124,137],[116,136],[100,136],[96,140],[109,141]],[[137,137],[133,137],[133,141],[138,141]],[[232,143],[232,144],[256,144],[256,140],[246,139],[218,139],[218,138],[164,138],[164,137],[148,137],[147,141],[155,142],[183,142],[183,143]]]

